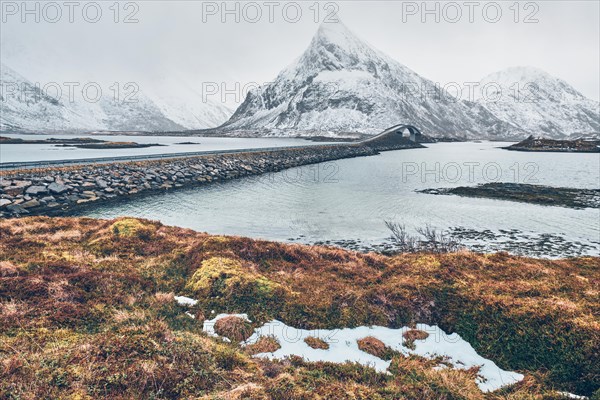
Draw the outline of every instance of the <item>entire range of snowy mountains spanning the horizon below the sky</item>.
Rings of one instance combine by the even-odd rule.
[[[250,91],[232,112],[202,98],[172,75],[153,81],[136,102],[110,96],[97,103],[54,99],[5,64],[3,88],[27,96],[0,99],[0,131],[185,131],[230,136],[355,136],[399,123],[425,135],[466,139],[553,139],[600,132],[600,103],[567,82],[532,67],[513,67],[480,81],[468,100],[376,50],[344,24],[322,24],[308,48],[276,79]],[[490,85],[491,84],[491,85]],[[490,90],[491,89],[491,90]],[[464,97],[463,97],[464,98]]]

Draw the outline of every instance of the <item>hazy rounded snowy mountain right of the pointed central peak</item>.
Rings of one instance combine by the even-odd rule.
[[[533,67],[490,74],[475,91],[477,103],[496,117],[536,136],[564,138],[600,131],[600,103],[567,82]]]

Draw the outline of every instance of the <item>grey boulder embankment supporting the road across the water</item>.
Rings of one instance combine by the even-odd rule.
[[[421,146],[413,144],[412,147]],[[300,165],[375,155],[377,150],[362,145],[313,146],[157,161],[6,171],[0,173],[0,217],[61,215],[83,204],[276,172]]]

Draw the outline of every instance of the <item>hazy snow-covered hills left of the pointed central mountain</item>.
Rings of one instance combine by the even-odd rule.
[[[5,64],[0,66],[2,98],[0,130],[16,131],[171,131],[218,126],[231,112],[199,94],[182,90],[179,96],[156,89],[151,96],[137,92],[129,100],[103,95],[97,102],[68,94],[54,98]]]

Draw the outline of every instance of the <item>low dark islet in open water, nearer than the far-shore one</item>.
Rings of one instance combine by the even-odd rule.
[[[424,189],[419,193],[457,195],[567,208],[600,208],[599,189],[557,188],[525,183],[494,182],[477,186]]]

